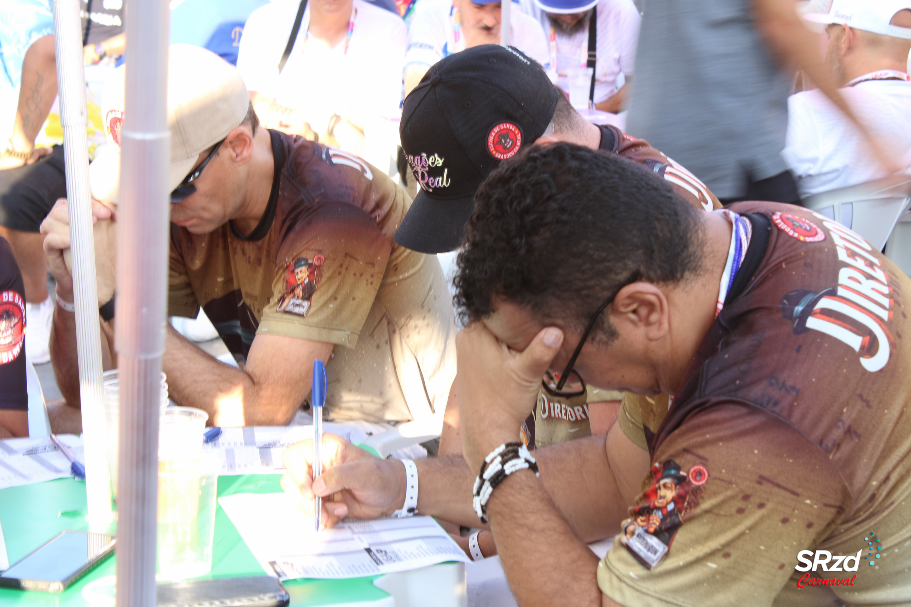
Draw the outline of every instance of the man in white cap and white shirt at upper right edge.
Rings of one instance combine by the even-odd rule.
[[[834,0],[829,13],[805,19],[826,24],[826,64],[841,94],[911,173],[911,0]],[[886,177],[855,126],[819,90],[788,99],[783,157],[801,197]]]

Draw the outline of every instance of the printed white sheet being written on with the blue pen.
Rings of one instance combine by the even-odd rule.
[[[343,521],[317,533],[312,519],[284,493],[240,493],[219,503],[263,570],[281,580],[353,578],[468,562],[429,516]]]

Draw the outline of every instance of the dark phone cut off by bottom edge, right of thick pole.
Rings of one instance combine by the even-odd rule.
[[[285,607],[291,598],[266,575],[159,584],[159,607]]]

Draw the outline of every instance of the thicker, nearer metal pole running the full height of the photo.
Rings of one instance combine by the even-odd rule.
[[[168,3],[127,4],[118,205],[118,607],[154,607],[159,385],[168,297]]]

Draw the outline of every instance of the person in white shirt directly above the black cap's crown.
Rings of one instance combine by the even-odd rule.
[[[509,11],[510,44],[547,67],[548,43],[537,21]],[[408,28],[404,93],[407,95],[437,61],[466,48],[500,43],[499,0],[421,0]]]

